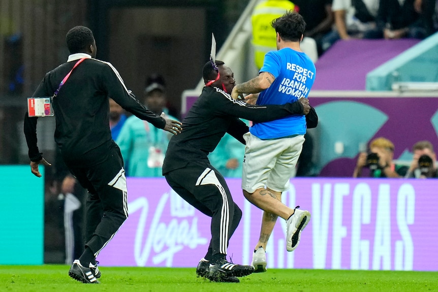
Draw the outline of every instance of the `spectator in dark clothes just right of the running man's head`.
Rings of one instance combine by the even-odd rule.
[[[323,53],[322,39],[331,31],[334,23],[332,1],[293,0],[295,9],[303,16],[306,22],[304,36],[316,41],[319,56]]]

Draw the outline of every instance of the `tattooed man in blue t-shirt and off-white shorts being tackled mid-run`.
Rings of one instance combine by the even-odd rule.
[[[258,105],[285,104],[305,99],[315,81],[315,64],[301,51],[305,22],[296,12],[288,12],[272,21],[276,31],[277,51],[265,55],[259,76],[234,87],[231,95],[243,93]],[[281,193],[289,188],[306,133],[304,115],[255,123],[246,141],[242,189],[245,198],[263,209],[262,228],[252,265],[255,272],[266,271],[266,245],[278,216],[287,220],[287,250],[294,250],[310,213],[291,209],[281,203]]]

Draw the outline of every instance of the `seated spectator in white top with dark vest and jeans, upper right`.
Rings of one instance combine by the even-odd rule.
[[[378,10],[379,0],[333,0],[335,28],[323,38],[323,50],[339,39],[373,38]]]

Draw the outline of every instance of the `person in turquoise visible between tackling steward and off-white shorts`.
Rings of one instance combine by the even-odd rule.
[[[247,121],[245,121],[248,124]],[[245,146],[230,134],[225,134],[213,152],[208,155],[212,166],[224,177],[242,177]]]

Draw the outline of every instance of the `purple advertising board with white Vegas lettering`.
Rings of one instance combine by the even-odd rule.
[[[234,263],[250,264],[262,211],[227,179],[242,209],[230,239]],[[437,180],[296,178],[288,206],[311,213],[298,248],[286,251],[278,218],[268,268],[438,271]],[[163,178],[128,178],[129,218],[99,254],[102,266],[196,267],[210,240],[210,218],[183,201]]]

